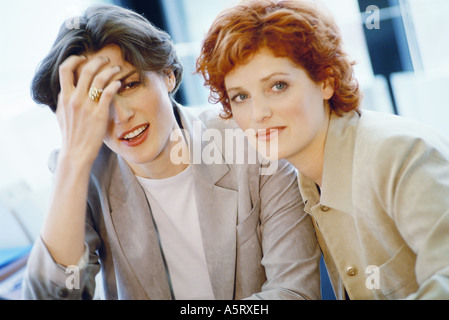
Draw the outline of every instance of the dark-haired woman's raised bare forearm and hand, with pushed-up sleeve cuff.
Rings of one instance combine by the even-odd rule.
[[[71,56],[59,68],[61,92],[56,115],[62,132],[62,147],[41,238],[35,244],[28,264],[25,297],[53,296],[51,282],[61,283],[61,278],[67,278],[66,267],[78,266],[84,261],[80,267],[84,269],[86,264],[89,175],[106,134],[109,105],[120,87],[120,82],[110,82],[119,70],[110,66],[105,68],[107,63],[105,58],[86,62],[86,57]],[[80,74],[78,81],[75,79],[77,72]],[[98,102],[88,97],[91,83],[105,88]],[[42,292],[45,290],[49,292]]]

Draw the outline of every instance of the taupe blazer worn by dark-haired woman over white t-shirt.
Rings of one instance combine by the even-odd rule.
[[[215,109],[200,118],[175,109],[191,142],[198,143],[194,121],[200,121],[201,133],[215,128],[223,137],[225,129],[236,128]],[[201,150],[210,147],[209,139],[199,142]],[[217,144],[219,150],[225,143]],[[224,161],[192,165],[215,298],[319,299],[320,250],[295,170],[284,161],[273,175],[260,175],[260,168]],[[72,273],[55,264],[38,239],[23,284],[25,298],[92,298],[100,269],[106,299],[173,298],[145,193],[125,161],[106,147],[92,169],[86,228],[90,255],[80,289],[67,289]]]

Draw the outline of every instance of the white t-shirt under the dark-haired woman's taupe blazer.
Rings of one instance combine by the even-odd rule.
[[[137,180],[151,206],[175,299],[214,299],[191,166],[167,179]]]

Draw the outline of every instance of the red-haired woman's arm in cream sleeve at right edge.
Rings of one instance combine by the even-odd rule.
[[[391,181],[390,185],[383,185],[385,192],[393,195],[384,199],[391,199],[387,212],[417,255],[415,274],[419,288],[408,298],[448,299],[449,144],[428,141],[390,141],[390,155],[381,152],[384,168],[389,168],[385,174],[394,177],[384,179]],[[395,146],[394,153],[391,145]]]

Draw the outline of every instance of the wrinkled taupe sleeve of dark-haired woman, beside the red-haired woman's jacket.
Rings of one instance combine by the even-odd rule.
[[[320,249],[294,168],[261,176],[261,236],[267,280],[253,299],[320,299]]]

